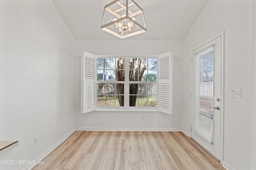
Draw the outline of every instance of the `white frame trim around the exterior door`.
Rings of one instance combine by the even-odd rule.
[[[213,41],[214,39],[221,37],[221,111],[220,111],[220,163],[223,164],[223,145],[224,145],[224,34],[225,30],[223,30],[221,33],[217,34],[211,39],[208,39],[204,41],[202,44],[197,45],[195,48],[192,48],[190,51],[190,138],[192,135],[192,88],[193,88],[193,63],[192,63],[192,57],[194,50],[202,47],[203,45],[206,45],[207,43]]]

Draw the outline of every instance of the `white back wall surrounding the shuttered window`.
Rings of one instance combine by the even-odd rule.
[[[94,130],[181,130],[182,115],[182,41],[76,41],[76,65],[80,54],[88,51],[97,55],[158,55],[174,53],[173,114],[166,113],[80,113],[80,67],[76,70],[76,128]],[[141,120],[144,115],[145,120]]]

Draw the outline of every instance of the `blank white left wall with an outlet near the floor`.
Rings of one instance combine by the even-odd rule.
[[[20,142],[0,160],[40,159],[74,131],[74,48],[51,0],[0,0],[0,141]]]

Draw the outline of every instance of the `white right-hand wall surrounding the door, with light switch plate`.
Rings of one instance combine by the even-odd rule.
[[[225,30],[223,163],[236,170],[249,170],[251,160],[251,22],[251,0],[209,0],[184,40],[183,127],[189,131],[190,52]],[[230,98],[232,88],[242,88],[242,98]]]

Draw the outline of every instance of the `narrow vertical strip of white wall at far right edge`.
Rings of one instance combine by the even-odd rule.
[[[251,170],[256,169],[256,1],[252,1],[252,143]]]

